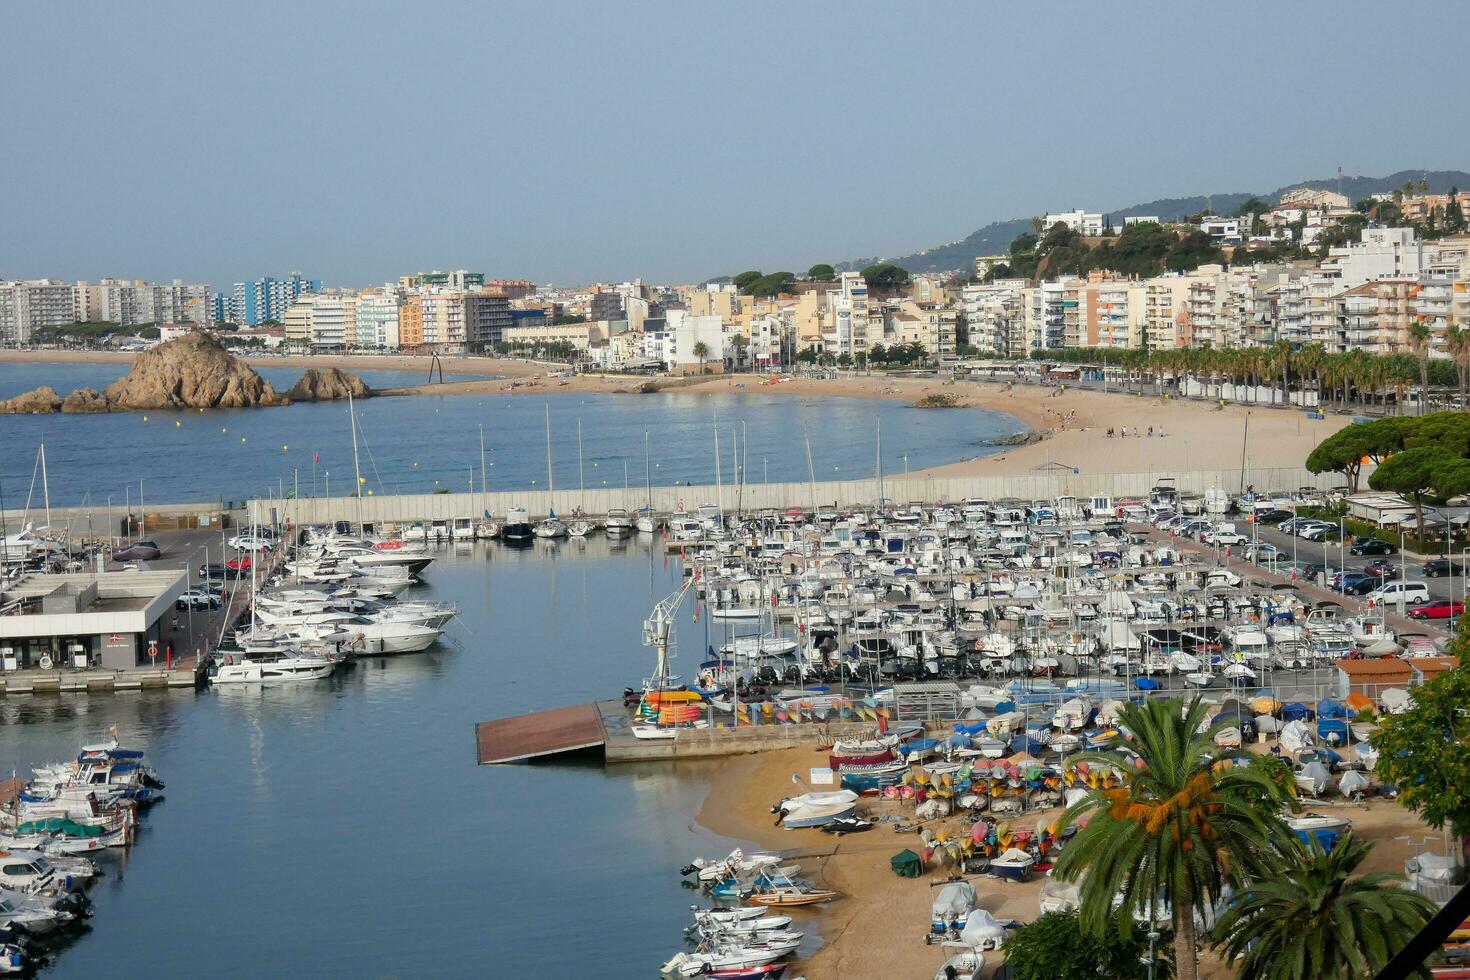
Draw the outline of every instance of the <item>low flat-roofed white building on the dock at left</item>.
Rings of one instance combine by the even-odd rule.
[[[0,671],[147,666],[184,588],[184,572],[22,576],[0,592]]]

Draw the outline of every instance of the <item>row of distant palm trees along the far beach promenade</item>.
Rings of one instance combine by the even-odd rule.
[[[1414,323],[1408,329],[1405,354],[1330,353],[1316,342],[1298,347],[1276,341],[1270,347],[1064,348],[1035,351],[1033,356],[1038,360],[1123,367],[1130,379],[1152,383],[1160,392],[1166,378],[1172,378],[1176,388],[1185,378],[1214,386],[1247,385],[1251,392],[1279,386],[1285,392],[1283,400],[1289,400],[1294,389],[1314,391],[1319,406],[1338,406],[1344,411],[1352,404],[1385,407],[1392,394],[1395,408],[1402,413],[1405,394],[1417,385],[1419,411],[1423,414],[1430,383],[1455,388],[1461,406],[1470,386],[1470,329],[1451,326],[1445,331],[1448,360],[1430,357],[1432,341],[1429,326]]]

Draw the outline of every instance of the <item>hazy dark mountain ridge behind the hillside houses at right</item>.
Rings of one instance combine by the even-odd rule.
[[[1329,191],[1336,191],[1341,187],[1342,194],[1345,194],[1349,201],[1357,201],[1369,197],[1370,194],[1388,194],[1396,191],[1404,187],[1404,184],[1410,181],[1419,182],[1420,179],[1429,181],[1430,194],[1444,194],[1451,187],[1470,191],[1470,173],[1466,173],[1464,170],[1399,170],[1396,173],[1389,173],[1388,176],[1330,176],[1320,181],[1298,181],[1297,184],[1288,184],[1286,187],[1276,188],[1269,194],[1233,191],[1226,194],[1201,194],[1197,197],[1164,197],[1157,201],[1113,209],[1105,212],[1105,215],[1114,222],[1132,215],[1157,215],[1164,220],[1173,220],[1185,217],[1186,215],[1202,212],[1205,207],[1210,207],[1219,215],[1229,215],[1251,197],[1261,197],[1274,203],[1286,191],[1292,191],[1299,187],[1314,187]],[[1004,253],[1010,248],[1011,241],[1014,241],[1017,235],[1029,231],[1030,217],[1013,217],[1008,220],[991,222],[985,228],[966,235],[961,241],[950,242],[947,245],[925,248],[923,251],[917,251],[911,256],[900,256],[897,259],[856,259],[839,264],[838,269],[861,269],[863,266],[875,262],[891,262],[895,266],[903,266],[913,273],[972,269],[975,266],[976,256],[995,256]]]

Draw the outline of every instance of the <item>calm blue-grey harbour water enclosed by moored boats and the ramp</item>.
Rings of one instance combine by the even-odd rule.
[[[116,724],[168,782],[49,976],[657,976],[695,899],[676,868],[732,846],[692,826],[710,767],[482,768],[472,726],[637,683],[678,564],[601,538],[440,554],[419,594],[463,619],[426,654],[288,688],[0,699],[6,774]]]

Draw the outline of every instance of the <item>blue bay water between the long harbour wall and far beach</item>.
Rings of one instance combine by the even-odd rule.
[[[53,367],[53,366],[47,366]],[[97,366],[56,366],[97,367]],[[106,366],[115,367],[115,366]],[[0,395],[35,386],[0,364]],[[62,388],[62,386],[59,386]],[[564,394],[422,395],[373,398],[359,406],[363,476],[375,494],[479,488],[479,433],[485,433],[490,489],[545,489],[545,411],[551,411],[556,485],[634,488],[641,502],[644,432],[651,432],[654,485],[713,485],[714,432],[720,433],[720,479],[734,473],[741,439],[745,479],[866,479],[876,467],[882,426],[883,472],[922,469],[998,451],[986,445],[1020,432],[1013,416],[982,408],[923,410],[872,398],[773,397],[732,391],[717,395]],[[578,463],[578,423],[582,461]],[[811,460],[807,461],[806,439]],[[53,504],[84,498],[122,505],[146,479],[147,500],[240,501],[266,488],[300,485],[301,495],[341,494],[351,486],[353,455],[347,406],[150,411],[100,416],[0,416],[0,492],[19,507],[31,492],[37,445],[46,442]],[[40,489],[34,497],[40,502]],[[692,505],[692,504],[691,504]]]

